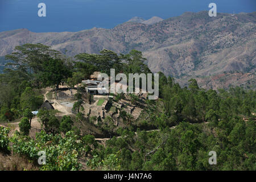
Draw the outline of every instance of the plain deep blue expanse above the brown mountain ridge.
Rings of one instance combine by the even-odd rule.
[[[46,17],[38,16],[38,4],[46,3]],[[185,11],[218,13],[256,11],[256,0],[0,0],[0,31],[27,28],[33,32],[80,31],[113,28],[134,16],[163,19]]]

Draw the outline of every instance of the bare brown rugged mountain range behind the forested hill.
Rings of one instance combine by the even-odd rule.
[[[157,19],[79,32],[0,32],[0,56],[25,43],[46,44],[70,56],[138,49],[152,72],[162,71],[183,86],[193,77],[203,88],[225,88],[226,83],[255,88],[256,12],[209,17],[201,11],[152,23]]]

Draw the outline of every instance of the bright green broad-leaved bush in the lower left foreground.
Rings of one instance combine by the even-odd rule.
[[[16,154],[27,156],[29,159],[37,161],[38,152],[46,152],[46,164],[40,166],[44,171],[70,171],[81,169],[78,156],[82,155],[86,141],[77,142],[78,136],[72,131],[61,135],[46,134],[41,131],[36,134],[36,139],[21,137],[17,134],[11,138],[13,151]]]

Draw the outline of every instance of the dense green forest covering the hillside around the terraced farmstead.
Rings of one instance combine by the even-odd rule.
[[[93,119],[80,112],[80,88],[75,119],[40,109],[43,130],[31,138],[31,111],[43,104],[43,88],[73,88],[94,71],[109,74],[110,68],[126,75],[151,71],[136,50],[118,55],[104,49],[71,58],[43,44],[24,44],[5,57],[11,61],[0,75],[0,123],[19,120],[20,132],[0,127],[0,160],[14,155],[40,170],[256,170],[254,90],[205,90],[195,79],[181,88],[159,72],[159,98],[146,101],[141,117],[133,121],[121,112],[125,127],[114,126],[111,117],[97,126],[108,131],[104,145],[73,125]],[[115,100],[122,97],[114,95]],[[41,166],[39,151],[47,156]],[[216,151],[216,165],[208,163],[209,151]],[[6,168],[0,164],[0,169]]]

